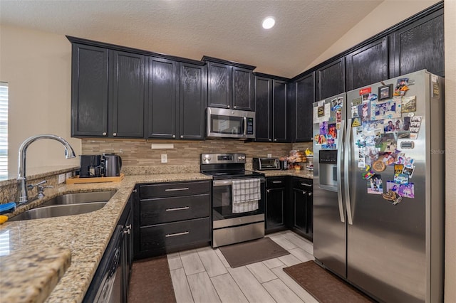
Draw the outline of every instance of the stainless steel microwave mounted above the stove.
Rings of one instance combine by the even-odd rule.
[[[255,112],[207,107],[207,137],[255,138]]]

